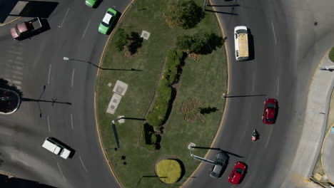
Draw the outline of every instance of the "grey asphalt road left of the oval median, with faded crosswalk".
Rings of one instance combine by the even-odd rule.
[[[50,101],[39,102],[41,110],[24,101],[13,115],[0,116],[2,172],[54,187],[118,187],[96,135],[97,69],[82,61],[98,64],[108,38],[98,24],[108,7],[122,12],[129,3],[104,0],[91,9],[84,1],[59,1],[47,18],[51,29],[24,41],[10,36],[17,21],[1,27],[0,78],[18,86],[24,98]],[[73,148],[74,157],[64,160],[42,148],[49,136]]]

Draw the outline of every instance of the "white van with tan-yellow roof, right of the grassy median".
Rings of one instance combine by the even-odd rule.
[[[248,60],[248,31],[246,26],[236,26],[234,28],[234,46],[236,48],[236,60]]]

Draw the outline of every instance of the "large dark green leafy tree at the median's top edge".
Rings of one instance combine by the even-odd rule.
[[[182,26],[183,28],[194,28],[205,16],[205,13],[195,1],[168,1],[165,11],[166,21],[169,26]]]

